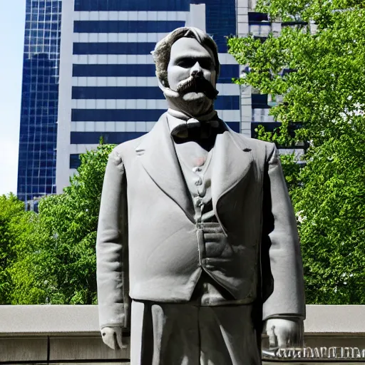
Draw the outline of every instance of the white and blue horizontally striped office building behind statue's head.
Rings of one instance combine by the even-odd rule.
[[[63,1],[59,87],[57,192],[68,184],[78,155],[104,143],[148,132],[167,109],[151,51],[180,26],[207,31],[219,47],[222,71],[215,103],[240,132],[239,66],[225,36],[237,34],[235,0]]]

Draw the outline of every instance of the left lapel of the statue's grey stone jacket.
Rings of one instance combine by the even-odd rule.
[[[166,113],[161,115],[135,152],[150,178],[192,219],[194,208],[176,156]]]

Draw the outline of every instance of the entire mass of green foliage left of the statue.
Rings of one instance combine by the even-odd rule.
[[[0,197],[1,304],[96,304],[96,229],[112,149],[81,155],[70,185],[43,197],[38,214]]]

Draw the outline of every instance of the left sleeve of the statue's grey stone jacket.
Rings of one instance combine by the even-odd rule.
[[[129,307],[128,210],[122,159],[110,153],[104,176],[96,238],[100,327],[127,327]]]

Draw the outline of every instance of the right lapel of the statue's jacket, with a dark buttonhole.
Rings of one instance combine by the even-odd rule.
[[[245,178],[252,166],[250,151],[243,138],[228,127],[217,135],[212,159],[212,204],[218,218],[217,203]]]

